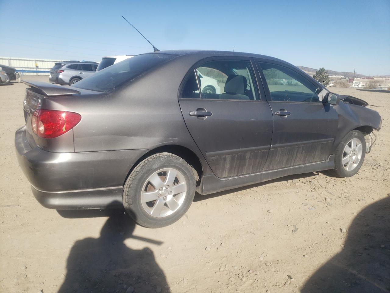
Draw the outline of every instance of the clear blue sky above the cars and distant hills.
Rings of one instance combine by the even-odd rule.
[[[390,1],[0,0],[0,55],[99,61],[152,50],[233,50],[294,65],[390,74]]]

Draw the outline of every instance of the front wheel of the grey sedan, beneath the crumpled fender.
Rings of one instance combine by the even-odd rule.
[[[352,130],[340,141],[335,154],[335,168],[331,170],[336,177],[355,175],[365,158],[365,139],[359,130]]]

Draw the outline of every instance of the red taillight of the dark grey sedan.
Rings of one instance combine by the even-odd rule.
[[[41,138],[56,138],[71,130],[81,120],[78,113],[37,110],[31,118],[32,131]]]

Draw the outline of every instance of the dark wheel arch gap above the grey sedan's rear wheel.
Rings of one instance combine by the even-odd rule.
[[[181,157],[184,161],[186,161],[191,168],[193,169],[195,180],[196,180],[196,186],[200,186],[200,182],[202,180],[203,176],[203,167],[202,163],[199,159],[199,157],[189,148],[183,147],[181,145],[164,145],[161,147],[154,148],[152,150],[149,150],[147,153],[142,155],[131,167],[129,170],[129,173],[126,176],[126,179],[124,180],[123,184],[125,184],[126,180],[128,179],[129,175],[133,170],[140,164],[142,161],[147,159],[148,157],[151,157],[152,155],[159,154],[159,153],[170,153],[177,155],[178,157]]]

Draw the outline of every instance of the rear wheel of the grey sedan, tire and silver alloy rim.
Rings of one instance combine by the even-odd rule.
[[[160,228],[179,220],[195,195],[190,165],[170,153],[153,155],[131,172],[123,192],[123,205],[135,222]]]

